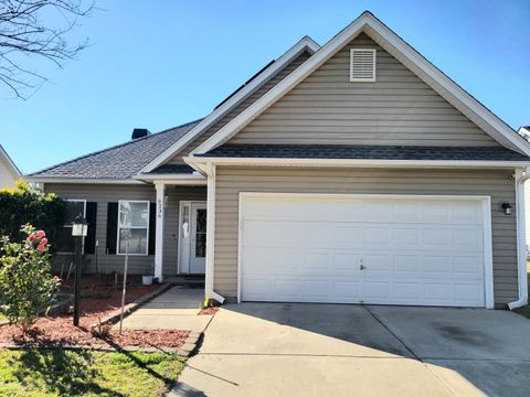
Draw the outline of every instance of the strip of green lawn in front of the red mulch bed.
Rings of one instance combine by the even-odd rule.
[[[165,353],[0,352],[1,396],[163,396],[184,360]]]

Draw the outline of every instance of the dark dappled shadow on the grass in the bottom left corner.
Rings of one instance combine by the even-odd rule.
[[[44,386],[45,390],[42,391],[61,396],[87,393],[123,396],[95,382],[100,373],[91,367],[92,361],[92,355],[86,351],[29,350],[12,365],[17,367],[14,375],[19,382],[36,390],[42,390]]]

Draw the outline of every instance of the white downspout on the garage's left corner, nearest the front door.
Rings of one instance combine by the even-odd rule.
[[[206,273],[204,280],[204,294],[224,303],[224,297],[213,290],[213,266],[215,253],[215,165],[209,161],[206,164],[208,178],[208,217],[206,217]]]

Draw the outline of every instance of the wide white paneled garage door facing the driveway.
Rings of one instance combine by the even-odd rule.
[[[480,197],[242,193],[240,205],[243,301],[485,305]]]

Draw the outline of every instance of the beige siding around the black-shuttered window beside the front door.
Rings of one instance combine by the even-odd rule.
[[[45,184],[46,192],[54,192],[63,198],[81,198],[87,202],[97,202],[96,240],[99,242],[99,269],[103,272],[123,272],[124,256],[107,255],[107,203],[117,203],[119,200],[147,200],[156,202],[156,191],[152,185],[93,185],[93,184]],[[177,273],[179,246],[179,204],[181,200],[205,201],[206,190],[203,186],[167,186],[168,206],[163,236],[163,267],[165,276]],[[56,264],[70,266],[72,258],[60,255]],[[147,273],[155,264],[155,256],[130,256],[129,271],[132,275]],[[95,256],[85,256],[87,272],[95,271]]]

